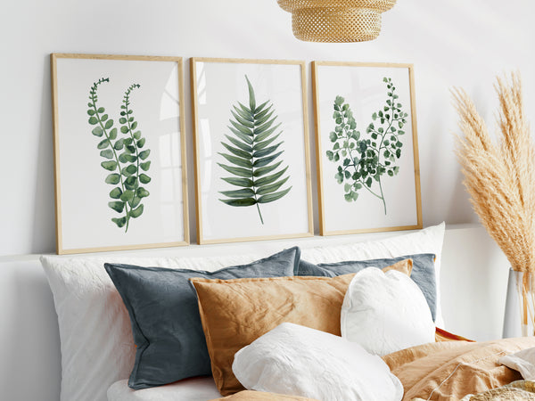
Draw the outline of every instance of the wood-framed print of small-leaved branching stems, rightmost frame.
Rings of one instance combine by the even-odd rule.
[[[414,67],[313,61],[321,235],[422,228]]]

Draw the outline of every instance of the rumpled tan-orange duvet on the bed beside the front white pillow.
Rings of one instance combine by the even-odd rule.
[[[440,338],[440,334],[438,337]],[[460,400],[468,394],[478,394],[521,380],[520,373],[498,364],[498,359],[520,349],[535,347],[535,337],[485,342],[450,338],[437,340],[441,341],[383,356],[391,372],[398,376],[403,384],[403,401],[418,398],[436,401]],[[284,401],[310,398],[241,391],[233,396],[218,399]]]

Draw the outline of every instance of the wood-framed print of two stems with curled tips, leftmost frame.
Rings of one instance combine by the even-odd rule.
[[[56,250],[187,245],[181,57],[51,54]]]

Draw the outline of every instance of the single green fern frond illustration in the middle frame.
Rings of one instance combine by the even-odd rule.
[[[256,206],[263,225],[259,205],[278,201],[292,186],[284,187],[290,176],[286,174],[288,166],[281,160],[283,131],[273,103],[268,100],[257,105],[251,81],[247,76],[245,80],[249,106],[237,102],[230,110],[230,132],[225,135],[227,142],[221,142],[226,152],[219,153],[224,162],[218,166],[231,175],[221,179],[233,189],[220,192],[226,199],[219,201],[234,207]]]

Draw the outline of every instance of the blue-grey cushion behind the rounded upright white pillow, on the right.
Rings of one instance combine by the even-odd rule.
[[[357,273],[360,270],[374,266],[383,268],[391,266],[399,260],[413,259],[413,271],[410,278],[416,282],[420,290],[424,292],[427,305],[431,309],[432,320],[434,322],[437,314],[437,282],[435,279],[434,260],[435,255],[432,253],[420,253],[416,255],[406,255],[399,258],[382,258],[370,260],[351,260],[337,263],[321,263],[315,265],[300,260],[295,275],[317,275],[324,277],[334,277],[342,274]]]

